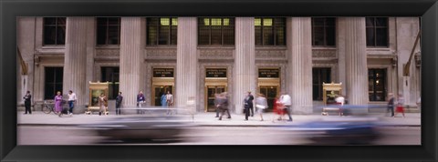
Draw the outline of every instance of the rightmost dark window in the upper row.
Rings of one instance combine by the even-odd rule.
[[[387,17],[366,17],[367,25],[367,46],[387,47],[388,46],[388,18]]]

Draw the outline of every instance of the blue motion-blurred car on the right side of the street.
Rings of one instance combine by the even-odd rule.
[[[315,145],[370,145],[381,135],[376,117],[326,117],[288,130],[299,131]]]

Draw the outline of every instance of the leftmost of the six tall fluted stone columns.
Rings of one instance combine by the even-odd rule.
[[[68,94],[72,90],[78,96],[74,113],[84,110],[87,98],[87,35],[93,28],[92,17],[67,17],[66,26],[66,53],[64,56],[64,74],[62,93]]]

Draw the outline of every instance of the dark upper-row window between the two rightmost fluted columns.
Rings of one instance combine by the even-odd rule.
[[[336,46],[336,18],[312,18],[312,46]]]

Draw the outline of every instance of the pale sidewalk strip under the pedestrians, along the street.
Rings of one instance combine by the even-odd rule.
[[[57,116],[53,113],[44,114],[41,111],[34,111],[32,115],[24,115],[23,111],[17,111],[17,126],[78,126],[83,124],[99,123],[111,120],[116,117],[114,112],[110,112],[109,116],[99,115],[85,115],[76,114],[73,116]],[[126,116],[140,116],[140,115],[124,115]],[[286,125],[300,125],[309,121],[318,119],[329,119],[334,117],[355,117],[355,116],[321,116],[320,114],[313,115],[292,115],[294,121],[272,121],[273,113],[264,114],[264,121],[260,121],[260,116],[249,116],[249,120],[245,121],[245,115],[232,114],[232,118],[226,118],[226,115],[222,120],[218,120],[215,113],[197,113],[193,116],[184,116],[188,120],[193,121],[201,127],[278,127]],[[406,117],[401,117],[401,114],[397,117],[385,116],[384,114],[370,114],[371,117],[379,118],[379,122],[385,126],[394,127],[421,127],[421,114],[420,113],[406,113]]]

